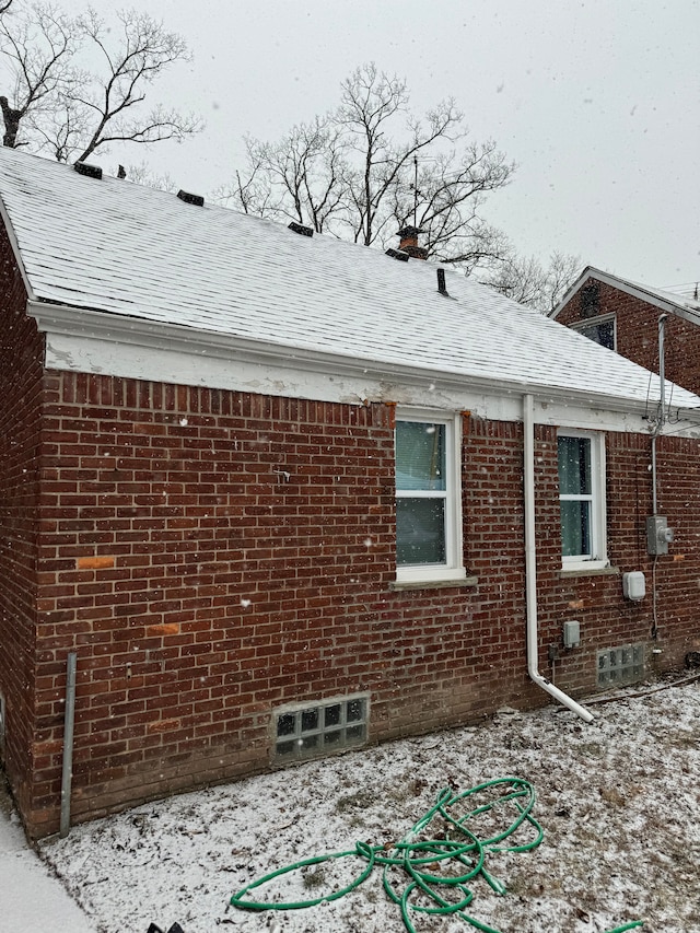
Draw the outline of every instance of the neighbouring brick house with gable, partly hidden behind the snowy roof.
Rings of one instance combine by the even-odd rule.
[[[604,347],[658,372],[658,317],[666,315],[666,376],[700,394],[700,301],[587,266],[550,314]]]

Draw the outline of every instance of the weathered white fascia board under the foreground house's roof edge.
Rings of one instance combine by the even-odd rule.
[[[27,313],[46,334],[47,369],[357,405],[468,409],[500,421],[521,420],[525,393],[575,423],[591,412],[627,423],[648,411],[646,403],[605,393],[469,377],[66,305],[28,302]],[[700,424],[700,411],[691,417]]]

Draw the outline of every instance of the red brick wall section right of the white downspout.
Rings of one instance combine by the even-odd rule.
[[[610,432],[606,436],[608,557],[621,573],[642,571],[646,597],[622,598],[621,575],[562,576],[559,572],[556,429],[538,429],[537,536],[540,670],[546,673],[547,645],[561,645],[562,625],[581,622],[581,648],[560,648],[555,680],[576,695],[595,687],[600,649],[642,642],[651,670],[682,666],[688,651],[700,649],[696,594],[700,586],[700,442],[657,440],[660,514],[668,516],[676,539],[669,553],[646,552],[646,516],[652,514],[651,438]],[[548,543],[548,544],[547,544]],[[656,634],[653,585],[656,581]]]

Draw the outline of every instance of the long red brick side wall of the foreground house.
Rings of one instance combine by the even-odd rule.
[[[396,592],[390,406],[48,373],[31,830],[57,826],[70,650],[75,819],[269,767],[290,701],[366,690],[372,740],[547,702],[526,669],[522,425],[464,429],[478,585]],[[607,439],[609,553],[651,590],[650,443]],[[658,559],[652,641],[651,598],[626,603],[619,575],[561,578],[556,430],[537,430],[539,667],[563,689],[595,688],[598,648],[643,641],[663,667],[697,644],[697,454],[658,442],[682,559]],[[571,618],[581,649],[552,672]]]

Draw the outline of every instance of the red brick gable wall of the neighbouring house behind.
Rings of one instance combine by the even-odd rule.
[[[599,282],[596,316],[603,314],[616,315],[618,353],[657,373],[660,310],[620,289]],[[557,320],[570,327],[584,319],[579,291],[558,314]],[[666,378],[700,394],[700,326],[669,314],[664,361]]]

